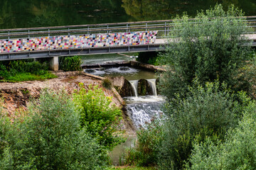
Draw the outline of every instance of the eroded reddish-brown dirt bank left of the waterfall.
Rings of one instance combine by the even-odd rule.
[[[79,83],[88,86],[99,86],[102,88],[105,96],[112,96],[112,103],[124,109],[124,101],[117,91],[112,89],[105,89],[102,87],[102,77],[96,77],[90,74],[80,72],[56,72],[58,78],[48,79],[45,81],[23,81],[18,83],[0,83],[0,98],[4,99],[4,108],[9,111],[10,116],[15,116],[15,111],[18,108],[25,108],[31,98],[38,98],[42,89],[48,88],[53,91],[64,90],[68,94],[72,94],[75,89],[79,89]],[[127,132],[133,132],[134,128],[128,116],[123,113],[124,129]]]

